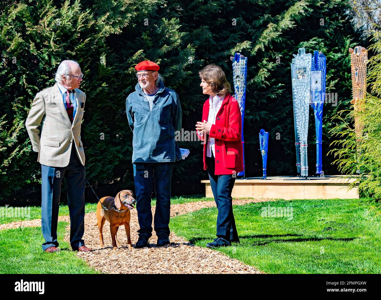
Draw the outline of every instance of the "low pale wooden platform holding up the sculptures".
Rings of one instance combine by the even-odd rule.
[[[236,179],[232,196],[234,198],[269,198],[269,199],[353,199],[359,198],[358,188],[348,190],[354,179],[343,179],[339,175],[308,177],[302,179],[293,176],[252,177]],[[213,197],[209,180],[205,183],[205,194]]]

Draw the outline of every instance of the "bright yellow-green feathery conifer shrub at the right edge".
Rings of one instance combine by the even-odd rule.
[[[376,40],[368,51],[375,53],[368,60],[368,93],[357,111],[341,111],[333,117],[340,123],[332,129],[338,138],[332,145],[331,152],[337,158],[333,163],[339,171],[354,177],[351,187],[359,186],[360,193],[371,197],[376,202],[381,199],[381,32],[374,32]],[[343,117],[346,112],[347,115]],[[363,136],[356,137],[354,119],[358,118],[363,127]],[[359,176],[353,176],[360,171]]]

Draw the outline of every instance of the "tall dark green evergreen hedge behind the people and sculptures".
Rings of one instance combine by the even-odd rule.
[[[270,133],[267,174],[272,176],[296,174],[292,53],[300,47],[323,51],[327,92],[338,93],[338,105],[324,108],[323,170],[337,173],[333,157],[326,154],[332,141],[328,131],[341,121],[331,117],[350,105],[348,48],[367,46],[351,24],[347,1],[8,0],[0,10],[0,51],[8,57],[0,63],[0,199],[14,197],[14,191],[24,191],[25,198],[30,191],[40,196],[40,165],[24,123],[33,97],[54,84],[64,59],[77,60],[85,74],[81,137],[86,174],[92,184],[109,184],[105,195],[133,188],[125,99],[136,85],[134,65],[144,59],[160,65],[165,85],[180,97],[184,131],[192,131],[207,98],[199,87],[199,70],[214,63],[232,83],[229,57],[235,52],[247,56],[247,177],[261,175],[261,128]],[[314,174],[312,109],[309,141],[309,174]],[[207,178],[202,146],[197,141],[179,144],[191,154],[176,163],[173,193],[201,192],[200,180]]]

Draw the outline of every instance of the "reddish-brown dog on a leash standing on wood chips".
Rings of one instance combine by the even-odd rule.
[[[133,204],[136,203],[136,200],[133,198],[132,191],[130,190],[123,190],[118,193],[118,195],[114,197],[103,197],[100,199],[101,203],[104,207],[109,209],[106,211],[102,208],[101,203],[98,201],[98,205],[96,207],[96,218],[97,223],[94,224],[94,226],[98,225],[99,229],[99,239],[101,246],[104,246],[103,244],[103,225],[104,222],[109,221],[110,222],[110,233],[112,238],[112,247],[120,247],[120,244],[117,239],[117,231],[119,229],[119,226],[124,225],[126,229],[126,235],[127,235],[127,243],[128,243],[128,249],[131,249],[131,236],[130,236],[130,209],[133,209]],[[114,209],[111,209],[115,205],[115,208],[122,212],[117,212]]]

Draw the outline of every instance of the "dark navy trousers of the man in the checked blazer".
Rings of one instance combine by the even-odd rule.
[[[45,243],[42,249],[58,247],[57,225],[62,179],[66,178],[67,204],[70,215],[70,245],[74,250],[84,245],[85,232],[85,166],[80,163],[72,145],[70,161],[66,167],[41,165],[42,202],[41,227]]]

